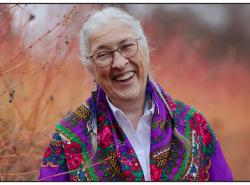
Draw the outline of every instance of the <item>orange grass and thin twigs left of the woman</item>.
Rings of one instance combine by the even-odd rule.
[[[12,10],[18,8],[14,5]],[[61,15],[58,23],[25,47],[22,33],[11,32],[12,14],[7,9],[1,11],[0,180],[36,180],[56,120],[88,92],[81,81],[84,68],[79,68],[79,58],[72,52],[76,38],[68,38],[77,10]]]

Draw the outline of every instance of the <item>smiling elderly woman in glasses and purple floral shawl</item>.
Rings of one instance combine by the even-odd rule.
[[[96,89],[60,121],[41,163],[42,181],[231,181],[211,127],[149,75],[138,20],[107,7],[81,31]]]

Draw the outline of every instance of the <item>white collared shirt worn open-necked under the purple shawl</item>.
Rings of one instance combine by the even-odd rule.
[[[148,108],[149,102],[146,102],[144,107],[144,114],[140,118],[137,130],[135,130],[128,119],[128,117],[117,107],[115,107],[106,96],[108,104],[124,133],[126,134],[129,142],[131,143],[136,156],[141,165],[144,178],[146,181],[151,180],[150,175],[150,133],[151,133],[151,120],[155,110],[155,104]]]

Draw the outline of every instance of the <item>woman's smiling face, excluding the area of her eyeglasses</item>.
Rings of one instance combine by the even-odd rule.
[[[136,39],[132,29],[120,21],[99,26],[89,39],[89,53],[92,55],[100,49],[117,49],[124,40]],[[92,62],[93,75],[100,87],[113,103],[135,102],[145,97],[149,59],[138,40],[138,52],[132,58],[126,59],[119,52],[114,52],[113,63],[100,68]]]

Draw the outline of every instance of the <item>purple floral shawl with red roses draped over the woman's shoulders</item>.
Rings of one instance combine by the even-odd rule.
[[[232,181],[211,127],[193,107],[172,99],[153,80],[152,181]],[[101,88],[53,133],[41,162],[41,181],[144,181],[138,158]]]

